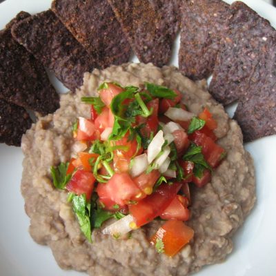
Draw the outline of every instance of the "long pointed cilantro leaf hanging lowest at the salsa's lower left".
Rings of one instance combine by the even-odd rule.
[[[86,236],[86,239],[88,239],[89,242],[92,242],[90,224],[91,206],[86,202],[86,195],[73,195],[72,206],[79,221],[82,233]]]

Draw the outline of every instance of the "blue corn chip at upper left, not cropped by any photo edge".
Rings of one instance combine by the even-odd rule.
[[[15,24],[12,36],[72,92],[82,85],[83,74],[95,68],[95,61],[51,10]]]

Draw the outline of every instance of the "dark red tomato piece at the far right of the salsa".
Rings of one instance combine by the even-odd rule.
[[[224,148],[215,144],[213,139],[198,130],[189,135],[189,138],[194,141],[197,146],[202,147],[202,154],[212,168],[219,166],[221,160],[224,159],[226,155]]]

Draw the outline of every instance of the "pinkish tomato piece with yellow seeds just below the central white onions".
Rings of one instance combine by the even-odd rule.
[[[150,173],[143,172],[138,177],[135,177],[133,181],[146,195],[150,195],[159,177],[159,170],[152,170]]]

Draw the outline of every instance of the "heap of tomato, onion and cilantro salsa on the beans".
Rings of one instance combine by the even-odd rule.
[[[116,239],[153,219],[164,224],[151,237],[157,252],[172,257],[190,239],[190,185],[202,187],[226,156],[216,144],[217,121],[208,108],[190,112],[181,92],[154,83],[122,87],[102,83],[99,97],[83,97],[90,117],[72,126],[73,156],[51,168],[53,184],[68,202],[89,242],[104,221],[103,234]]]

